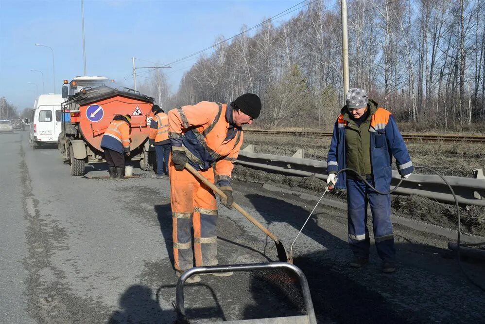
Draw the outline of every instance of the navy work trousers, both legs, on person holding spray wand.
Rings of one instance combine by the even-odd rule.
[[[372,186],[374,180],[367,179]],[[368,258],[370,248],[367,230],[367,204],[370,203],[377,253],[383,261],[395,261],[394,235],[391,223],[391,195],[381,195],[363,180],[347,178],[348,243],[356,257]]]

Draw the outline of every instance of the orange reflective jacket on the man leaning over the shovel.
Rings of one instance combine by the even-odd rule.
[[[202,101],[194,106],[172,109],[168,113],[169,137],[182,140],[187,157],[196,168],[205,170],[215,163],[215,180],[230,181],[243,132],[226,139],[230,127],[225,118],[230,106]]]

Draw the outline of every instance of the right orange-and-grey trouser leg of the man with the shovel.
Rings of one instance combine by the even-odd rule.
[[[214,182],[212,168],[201,171]],[[215,266],[217,261],[217,202],[214,193],[201,184],[194,198],[194,254],[196,266]],[[197,223],[197,224],[196,224]],[[198,226],[198,230],[196,230]]]

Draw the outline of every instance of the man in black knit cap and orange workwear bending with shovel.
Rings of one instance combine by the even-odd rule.
[[[244,124],[251,125],[261,110],[260,98],[245,93],[230,105],[202,101],[194,106],[172,109],[168,113],[172,144],[170,190],[173,221],[173,257],[177,276],[195,266],[217,265],[217,203],[214,193],[187,169],[190,163],[211,182],[217,182],[231,208],[231,174],[243,144]],[[215,175],[213,165],[215,164]],[[193,246],[192,234],[193,226]],[[228,276],[232,272],[211,273]],[[187,282],[199,282],[198,275]]]

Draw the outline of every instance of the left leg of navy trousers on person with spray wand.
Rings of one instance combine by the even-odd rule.
[[[365,183],[347,178],[346,185],[348,244],[356,257],[368,258],[370,239],[367,230]]]

